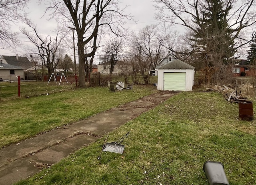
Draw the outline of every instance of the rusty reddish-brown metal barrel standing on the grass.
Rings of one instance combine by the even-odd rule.
[[[239,119],[245,121],[253,120],[252,101],[238,101]]]

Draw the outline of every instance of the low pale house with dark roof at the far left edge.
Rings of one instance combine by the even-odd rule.
[[[26,70],[33,70],[33,66],[26,57],[1,56],[0,78],[3,80],[17,80],[16,76],[25,79]],[[25,79],[26,80],[26,79]]]

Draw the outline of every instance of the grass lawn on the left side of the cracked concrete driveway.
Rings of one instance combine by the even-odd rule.
[[[134,86],[132,90],[116,92],[94,87],[3,101],[0,103],[0,147],[154,92],[157,91],[153,86]]]

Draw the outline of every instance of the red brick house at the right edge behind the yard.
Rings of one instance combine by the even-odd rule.
[[[233,60],[233,62],[232,73],[234,77],[256,75],[256,65],[247,64],[247,60],[241,59]]]

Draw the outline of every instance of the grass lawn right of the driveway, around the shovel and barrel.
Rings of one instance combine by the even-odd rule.
[[[222,162],[230,185],[255,185],[256,121],[238,117],[219,93],[183,92],[108,135],[131,130],[122,155],[97,159],[104,136],[16,185],[208,185],[205,161]]]

